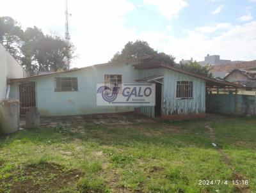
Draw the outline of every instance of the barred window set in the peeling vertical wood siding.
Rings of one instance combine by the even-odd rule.
[[[176,98],[193,98],[193,82],[177,81]]]

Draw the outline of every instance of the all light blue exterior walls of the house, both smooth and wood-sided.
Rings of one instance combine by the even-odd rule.
[[[43,116],[97,114],[105,112],[134,111],[134,106],[97,106],[96,86],[104,83],[104,74],[122,74],[123,83],[139,83],[136,79],[152,75],[164,75],[162,86],[162,114],[194,114],[205,112],[205,81],[165,68],[136,70],[136,63],[120,63],[108,66],[90,66],[76,72],[47,75],[36,82],[36,105]],[[54,92],[54,77],[77,77],[78,91]],[[179,80],[193,81],[193,99],[177,99],[176,84]],[[140,82],[141,83],[141,82]],[[19,84],[13,83],[10,95],[19,98]],[[164,100],[163,100],[164,99]],[[164,101],[164,102],[163,102]],[[154,117],[154,107],[141,107],[141,111]]]

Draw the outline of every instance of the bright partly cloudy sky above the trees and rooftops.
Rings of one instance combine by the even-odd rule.
[[[181,59],[256,59],[256,0],[68,0],[72,67],[108,62],[129,41]],[[64,0],[8,0],[0,16],[64,38]]]

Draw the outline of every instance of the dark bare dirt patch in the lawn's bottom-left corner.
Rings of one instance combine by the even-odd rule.
[[[68,185],[74,185],[81,176],[83,173],[78,170],[65,171],[58,164],[44,163],[26,166],[18,176],[26,180],[14,181],[11,176],[8,182],[13,184],[11,192],[57,192]]]

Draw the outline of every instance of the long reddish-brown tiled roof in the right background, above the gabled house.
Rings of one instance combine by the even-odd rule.
[[[256,72],[256,60],[253,61],[236,61],[225,65],[212,66],[211,73],[214,77],[224,78],[227,73],[234,69],[246,70],[248,72]]]

